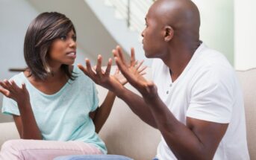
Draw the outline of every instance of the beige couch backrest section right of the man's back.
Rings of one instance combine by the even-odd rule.
[[[247,143],[251,159],[256,159],[256,68],[237,71],[246,110]]]

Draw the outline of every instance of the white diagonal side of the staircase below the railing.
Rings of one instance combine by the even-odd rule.
[[[93,10],[96,18],[104,25],[107,32],[113,36],[113,39],[116,40],[126,53],[130,55],[131,47],[133,47],[137,60],[146,60],[144,64],[150,65],[151,60],[146,59],[142,42],[139,40],[141,37],[140,33],[129,30],[125,19],[116,18],[116,9],[114,7],[108,7],[103,0],[84,1]],[[128,54],[125,54],[126,59],[128,59]]]

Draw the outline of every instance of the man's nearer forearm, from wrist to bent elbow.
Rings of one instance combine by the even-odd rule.
[[[202,141],[175,118],[160,97],[146,102],[149,104],[157,128],[178,159],[212,159]]]

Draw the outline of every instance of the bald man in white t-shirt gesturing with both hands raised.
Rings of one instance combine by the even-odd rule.
[[[157,159],[249,159],[243,96],[234,69],[199,40],[199,10],[190,0],[157,0],[146,15],[143,48],[153,62],[153,82],[138,74],[131,50],[113,50],[116,64],[142,95],[109,74],[111,60],[96,72],[78,65],[96,83],[125,101],[143,121],[160,130]]]

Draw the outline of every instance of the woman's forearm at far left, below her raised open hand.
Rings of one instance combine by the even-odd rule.
[[[30,103],[18,103],[20,117],[22,119],[21,138],[23,139],[42,139],[40,129],[34,118],[34,113]]]

